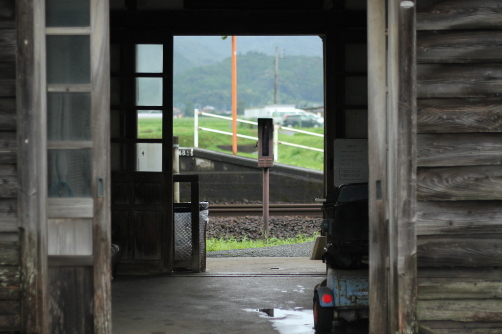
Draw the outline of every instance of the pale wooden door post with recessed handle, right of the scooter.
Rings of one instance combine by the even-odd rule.
[[[389,333],[386,0],[367,2],[369,328]]]

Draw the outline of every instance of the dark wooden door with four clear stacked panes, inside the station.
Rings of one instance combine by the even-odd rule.
[[[123,247],[116,272],[170,272],[172,35],[114,32],[111,50],[111,221]],[[141,131],[145,119],[155,131]]]

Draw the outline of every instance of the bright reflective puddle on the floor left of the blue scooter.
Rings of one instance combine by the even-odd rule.
[[[301,307],[300,307],[301,308]],[[244,308],[246,312],[257,312],[262,318],[272,321],[281,334],[314,334],[314,316],[311,309]]]

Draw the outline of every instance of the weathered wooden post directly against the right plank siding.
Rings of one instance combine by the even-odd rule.
[[[417,333],[416,6],[388,0],[390,333]]]

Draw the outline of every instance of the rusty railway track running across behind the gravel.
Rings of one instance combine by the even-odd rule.
[[[262,214],[261,204],[209,205],[209,216],[212,217],[245,217]],[[271,204],[269,216],[322,217],[321,204]]]

